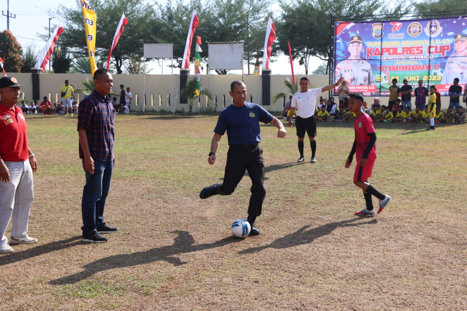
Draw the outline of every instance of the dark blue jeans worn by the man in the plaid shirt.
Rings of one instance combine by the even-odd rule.
[[[83,160],[85,169],[85,161]],[[94,160],[94,174],[85,169],[86,184],[81,200],[83,214],[83,234],[97,231],[97,227],[104,222],[104,206],[109,194],[112,180],[113,161]]]

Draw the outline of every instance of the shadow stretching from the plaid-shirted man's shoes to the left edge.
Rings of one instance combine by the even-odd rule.
[[[22,252],[15,251],[14,253],[8,256],[1,256],[0,266],[3,266],[8,263],[16,263],[21,260],[29,259],[35,256],[41,256],[47,253],[55,252],[60,249],[68,249],[70,247],[80,244],[82,244],[81,235],[77,235],[65,240],[38,245],[36,247],[33,247],[32,249],[23,250]]]

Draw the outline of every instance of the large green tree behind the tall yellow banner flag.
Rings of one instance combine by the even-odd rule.
[[[121,14],[125,13],[127,17],[128,24],[112,53],[112,64],[121,74],[125,60],[142,57],[143,43],[150,37],[150,25],[157,24],[153,17],[154,9],[144,0],[89,0],[88,3],[97,14],[96,55],[107,57]],[[61,46],[69,48],[76,58],[88,57],[79,0],[76,0],[76,4],[72,8],[60,5],[57,11],[50,14],[61,17],[64,23],[64,33],[59,39]]]

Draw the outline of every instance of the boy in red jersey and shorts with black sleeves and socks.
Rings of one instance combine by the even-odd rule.
[[[356,212],[355,215],[374,216],[375,209],[373,208],[371,196],[374,195],[380,200],[378,214],[388,205],[391,197],[380,193],[368,183],[368,178],[371,177],[371,171],[376,159],[376,133],[371,117],[361,111],[362,104],[363,97],[360,94],[350,94],[348,101],[349,111],[354,112],[357,115],[357,119],[354,123],[354,145],[346,160],[345,167],[349,168],[351,166],[354,154],[356,153],[357,165],[355,167],[354,184],[363,190],[366,207],[360,212]]]

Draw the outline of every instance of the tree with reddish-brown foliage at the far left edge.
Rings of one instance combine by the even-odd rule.
[[[0,33],[0,57],[7,72],[20,72],[24,63],[21,45],[9,30]]]

